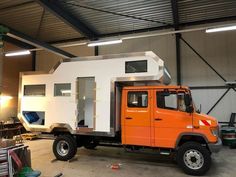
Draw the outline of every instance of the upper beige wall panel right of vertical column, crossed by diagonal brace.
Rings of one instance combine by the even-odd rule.
[[[183,38],[228,81],[236,80],[236,32],[184,33]],[[187,85],[224,85],[209,67],[181,42],[182,78]]]

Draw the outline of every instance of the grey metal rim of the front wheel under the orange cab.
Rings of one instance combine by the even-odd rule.
[[[201,152],[195,149],[190,149],[184,153],[185,165],[193,170],[202,168],[204,164],[204,158]]]

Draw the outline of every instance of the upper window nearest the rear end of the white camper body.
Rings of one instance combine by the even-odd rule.
[[[25,85],[24,96],[45,96],[46,85]]]

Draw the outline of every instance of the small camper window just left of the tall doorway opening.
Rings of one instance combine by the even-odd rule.
[[[70,96],[71,95],[71,84],[54,84],[54,96]]]

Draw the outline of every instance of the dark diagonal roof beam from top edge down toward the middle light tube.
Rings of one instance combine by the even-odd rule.
[[[49,10],[55,16],[60,18],[63,22],[70,25],[76,31],[86,36],[88,39],[90,40],[96,39],[97,33],[95,31],[90,29],[80,19],[78,19],[71,13],[67,12],[65,9],[63,9],[58,3],[56,3],[56,1],[50,1],[50,0],[35,0],[35,1],[38,2],[45,9]]]

